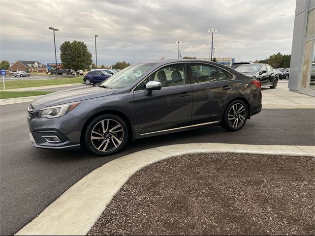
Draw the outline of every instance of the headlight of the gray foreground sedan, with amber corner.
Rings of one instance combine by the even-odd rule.
[[[74,108],[76,108],[80,102],[72,102],[72,103],[66,103],[58,106],[53,106],[53,107],[47,107],[38,110],[38,115],[37,117],[46,117],[46,118],[57,118],[57,117],[62,117],[68,112],[72,111]]]

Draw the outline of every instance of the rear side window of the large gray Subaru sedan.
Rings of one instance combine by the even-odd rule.
[[[193,83],[216,82],[233,79],[233,75],[231,73],[216,66],[201,63],[191,63],[190,65]]]

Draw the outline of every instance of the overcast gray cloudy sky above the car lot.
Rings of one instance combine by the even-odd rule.
[[[1,0],[0,60],[54,62],[64,41],[84,41],[97,64],[182,56],[236,61],[291,54],[295,0]]]

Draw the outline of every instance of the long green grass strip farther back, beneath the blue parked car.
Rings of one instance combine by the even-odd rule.
[[[5,78],[4,78],[5,80]],[[62,78],[59,80],[15,80],[15,81],[5,81],[5,89],[21,89],[21,88],[33,88],[40,86],[50,86],[50,85],[66,85],[83,83],[83,76],[77,76],[74,78]],[[0,80],[0,90],[3,90],[3,82]]]

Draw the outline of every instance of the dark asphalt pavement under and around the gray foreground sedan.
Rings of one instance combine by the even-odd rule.
[[[33,148],[28,137],[28,106],[0,106],[1,235],[16,233],[97,167],[138,150],[200,142],[315,145],[313,109],[263,109],[238,132],[226,132],[220,126],[200,128],[136,140],[116,155],[96,157],[84,150]]]

